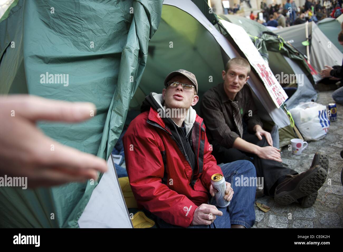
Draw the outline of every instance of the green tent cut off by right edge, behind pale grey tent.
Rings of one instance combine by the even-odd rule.
[[[343,18],[343,14],[340,15]],[[343,53],[343,46],[340,45],[338,42],[338,34],[341,31],[341,23],[338,19],[333,19],[332,17],[327,17],[325,19],[320,20],[317,23],[320,31],[324,33],[325,36],[330,39],[332,44],[334,44],[342,53]]]

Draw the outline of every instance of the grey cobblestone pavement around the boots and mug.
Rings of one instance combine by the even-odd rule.
[[[330,102],[334,102],[332,93],[333,91],[320,92],[316,102],[328,106]],[[331,123],[328,134],[319,141],[309,142],[301,156],[293,155],[287,147],[284,147],[281,153],[283,163],[299,173],[310,167],[315,152],[328,154],[328,178],[318,191],[316,203],[308,208],[302,208],[298,203],[282,206],[272,197],[263,196],[256,202],[269,206],[270,211],[264,213],[255,205],[256,222],[253,228],[343,227],[343,159],[340,156],[343,150],[343,106],[337,104],[337,111],[338,120]]]

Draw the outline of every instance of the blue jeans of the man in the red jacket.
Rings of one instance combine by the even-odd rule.
[[[222,216],[216,216],[216,219],[211,225],[197,225],[189,226],[188,228],[230,228],[232,224],[243,225],[246,228],[251,228],[255,223],[255,193],[256,185],[253,186],[240,186],[236,183],[236,178],[243,177],[256,177],[255,166],[247,160],[238,160],[232,163],[224,164],[222,172],[225,181],[231,184],[234,191],[232,200],[227,207],[218,207],[216,205],[215,197],[211,197],[208,204],[215,205],[219,211],[223,212]],[[237,186],[235,185],[237,184]],[[161,228],[181,228],[169,223],[166,223],[161,218],[157,217],[157,224]]]

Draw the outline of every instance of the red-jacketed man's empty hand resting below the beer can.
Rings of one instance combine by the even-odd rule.
[[[222,216],[223,212],[219,211],[214,205],[201,204],[194,212],[192,226],[211,225],[216,215]]]

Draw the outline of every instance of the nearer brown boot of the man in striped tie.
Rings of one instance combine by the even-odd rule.
[[[324,184],[328,173],[318,165],[298,175],[286,175],[285,180],[275,188],[274,200],[288,205],[297,199],[316,193]]]

